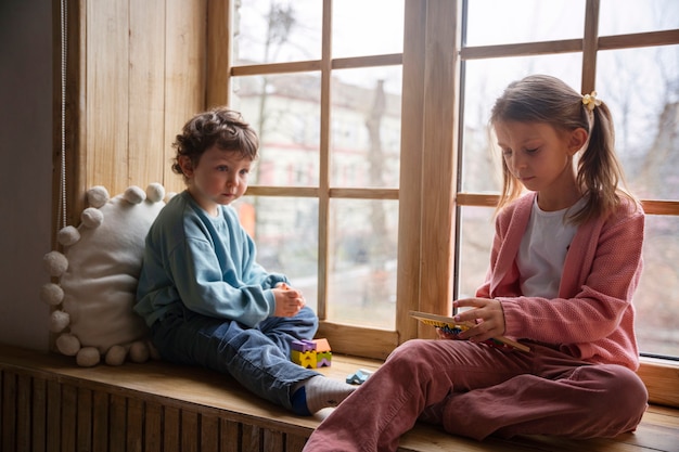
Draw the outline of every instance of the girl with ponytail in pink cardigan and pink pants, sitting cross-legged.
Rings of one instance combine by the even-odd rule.
[[[418,418],[478,440],[614,437],[640,422],[648,392],[635,373],[631,298],[644,214],[618,189],[608,108],[530,76],[507,88],[490,125],[504,180],[490,268],[475,298],[454,301],[474,308],[456,320],[476,326],[457,337],[466,340],[397,348],[306,452],[395,451]],[[501,335],[530,352],[482,344]]]

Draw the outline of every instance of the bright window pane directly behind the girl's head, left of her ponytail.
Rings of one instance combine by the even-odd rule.
[[[462,137],[462,191],[498,192],[501,188],[501,162],[489,144],[490,109],[507,86],[530,74],[549,74],[580,90],[581,55],[560,54],[465,63],[464,132]]]

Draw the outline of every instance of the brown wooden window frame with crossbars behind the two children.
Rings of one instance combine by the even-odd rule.
[[[498,196],[460,191],[461,125],[458,124],[459,85],[464,62],[475,59],[537,54],[582,54],[582,92],[594,89],[597,53],[600,50],[630,49],[679,43],[679,30],[599,36],[600,1],[587,0],[582,39],[498,46],[461,44],[459,17],[466,0],[408,0],[406,2],[402,54],[331,59],[332,0],[323,0],[323,43],[319,61],[232,66],[230,63],[230,3],[208,2],[207,105],[228,103],[233,76],[320,70],[322,77],[321,183],[318,189],[251,186],[259,196],[312,196],[320,203],[319,256],[326,256],[328,205],[330,198],[398,199],[399,244],[397,270],[396,330],[382,331],[335,324],[324,320],[328,268],[319,260],[319,334],[328,337],[338,352],[385,358],[403,341],[433,338],[432,328],[409,318],[409,310],[450,312],[454,296],[459,209],[463,206],[495,207]],[[461,5],[462,8],[458,9]],[[462,11],[462,14],[460,14]],[[226,44],[225,44],[226,43]],[[446,52],[445,49],[459,49]],[[402,64],[401,171],[398,190],[336,189],[328,184],[330,120],[330,74],[335,68]],[[423,177],[426,175],[426,178]],[[434,195],[432,195],[434,194]],[[679,201],[643,199],[649,215],[679,215]],[[413,220],[414,218],[414,220]],[[427,234],[427,231],[437,234]],[[449,253],[441,253],[448,249]],[[427,284],[423,284],[426,276]],[[643,358],[639,374],[646,383],[651,401],[679,406],[672,388],[679,382],[679,364],[671,360]]]

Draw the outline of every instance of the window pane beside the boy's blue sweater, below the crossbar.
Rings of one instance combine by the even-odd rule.
[[[243,196],[233,204],[257,245],[257,261],[285,274],[307,306],[318,307],[318,201]]]

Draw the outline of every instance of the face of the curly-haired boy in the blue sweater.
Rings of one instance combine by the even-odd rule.
[[[179,164],[189,179],[189,193],[203,209],[216,216],[218,205],[229,205],[243,196],[253,160],[212,146],[195,166],[189,157],[180,158]]]

